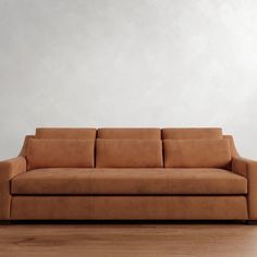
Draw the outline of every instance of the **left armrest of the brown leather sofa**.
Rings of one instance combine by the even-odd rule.
[[[26,159],[16,157],[0,161],[0,220],[10,219],[11,188],[10,181],[26,171]]]

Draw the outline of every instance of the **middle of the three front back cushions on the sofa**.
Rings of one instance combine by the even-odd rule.
[[[161,140],[97,139],[96,168],[161,168]]]

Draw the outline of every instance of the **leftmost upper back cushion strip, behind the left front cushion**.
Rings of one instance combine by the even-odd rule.
[[[38,127],[38,139],[95,139],[96,128]]]

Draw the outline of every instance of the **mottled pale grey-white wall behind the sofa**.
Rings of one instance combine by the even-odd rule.
[[[0,159],[37,126],[221,126],[257,159],[256,0],[0,0]]]

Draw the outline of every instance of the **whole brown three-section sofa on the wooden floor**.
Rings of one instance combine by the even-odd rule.
[[[37,128],[0,162],[0,220],[257,220],[221,128]]]

